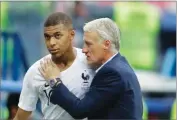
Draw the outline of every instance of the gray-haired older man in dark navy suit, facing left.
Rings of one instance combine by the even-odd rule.
[[[50,101],[60,105],[76,119],[141,120],[141,89],[135,72],[119,52],[118,26],[109,18],[88,22],[84,26],[84,43],[83,52],[87,62],[96,69],[90,89],[83,99],[79,99],[59,78],[50,79],[48,81],[53,88]],[[49,62],[43,66],[57,70],[57,66]],[[56,72],[45,69],[41,73],[44,77],[58,76],[53,75]]]

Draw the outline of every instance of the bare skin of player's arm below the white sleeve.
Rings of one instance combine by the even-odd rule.
[[[15,118],[13,120],[28,120],[31,113],[32,113],[31,111],[25,111],[21,108],[18,108],[18,111],[17,111]]]

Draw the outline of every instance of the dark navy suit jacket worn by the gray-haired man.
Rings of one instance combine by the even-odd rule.
[[[50,101],[75,119],[141,120],[143,113],[139,82],[120,53],[96,73],[83,99],[77,98],[60,83],[53,89]]]

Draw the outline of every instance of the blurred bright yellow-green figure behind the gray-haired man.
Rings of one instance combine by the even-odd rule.
[[[121,30],[120,51],[135,69],[156,70],[160,15],[145,2],[116,2],[114,20]]]

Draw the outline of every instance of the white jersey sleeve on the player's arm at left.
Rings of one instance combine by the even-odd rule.
[[[38,92],[35,84],[35,70],[29,69],[23,80],[22,91],[18,106],[25,111],[34,111],[38,101]]]

